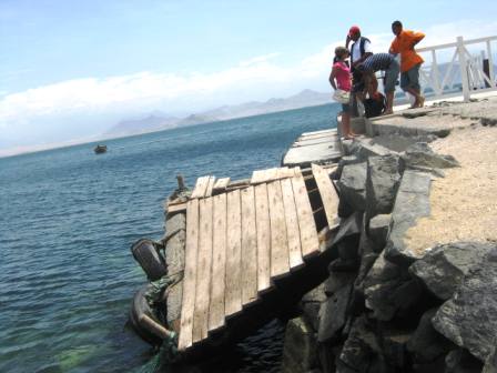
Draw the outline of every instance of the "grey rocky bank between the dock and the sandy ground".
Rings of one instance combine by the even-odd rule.
[[[495,125],[495,101],[475,114],[481,105],[489,107],[437,114]],[[287,324],[283,372],[497,372],[497,242],[463,238],[419,250],[409,236],[430,215],[434,180],[460,165],[430,149],[450,133],[432,122],[437,132],[389,131],[395,150],[384,139],[343,143],[347,155],[334,174],[339,258]],[[495,199],[487,203],[495,208]]]

